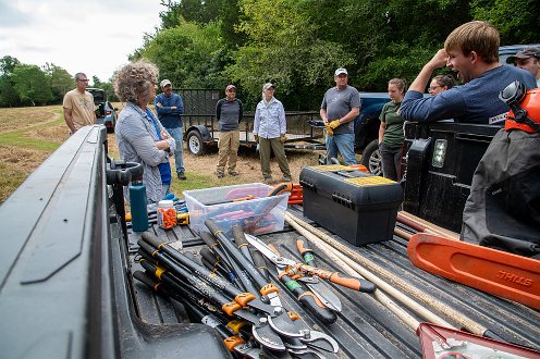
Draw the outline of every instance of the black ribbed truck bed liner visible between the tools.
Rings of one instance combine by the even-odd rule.
[[[302,207],[294,206],[289,211],[303,218]],[[310,222],[308,219],[303,219]],[[184,251],[197,253],[201,248],[201,240],[186,226],[176,226],[169,232],[152,227],[152,231],[159,237],[167,237],[173,242],[182,240]],[[296,238],[298,237],[302,236],[289,225],[285,225],[284,231],[280,233],[259,236],[265,242],[275,245],[282,256],[299,261],[300,258],[296,249]],[[137,235],[131,234],[130,262],[133,264],[132,270],[139,269],[138,263],[135,262],[136,249],[138,248],[136,238]],[[336,236],[334,238],[339,239]],[[342,243],[347,244],[343,240]],[[504,338],[536,349],[540,348],[540,313],[538,311],[415,268],[408,260],[405,239],[394,236],[392,240],[356,247],[355,250]],[[340,270],[324,253],[316,249],[316,255],[319,267]],[[342,300],[343,311],[339,314],[335,323],[324,324],[306,313],[293,299],[291,293],[278,282],[272,265],[269,265],[269,269],[274,283],[280,286],[281,297],[287,306],[311,327],[322,330],[338,341],[340,344],[339,358],[421,357],[420,343],[415,332],[371,295],[333,286]],[[140,283],[135,283],[134,287],[135,301],[145,321],[158,324],[176,321],[179,318],[182,320],[182,313],[177,312],[177,308],[171,306],[168,300],[163,300],[160,295],[151,293]],[[418,320],[422,321],[421,319]]]

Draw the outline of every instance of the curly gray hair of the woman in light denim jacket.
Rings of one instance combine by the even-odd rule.
[[[137,102],[140,95],[148,95],[156,86],[159,70],[146,60],[132,62],[120,69],[114,77],[114,92],[123,102]]]

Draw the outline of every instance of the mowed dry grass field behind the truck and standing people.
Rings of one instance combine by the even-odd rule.
[[[122,103],[113,103],[121,109]],[[109,154],[119,159],[114,134],[109,134]],[[0,203],[26,180],[49,156],[69,138],[62,107],[49,106],[37,108],[0,109]],[[318,153],[306,150],[287,151],[293,181],[298,182],[299,172],[306,165],[316,165]],[[214,174],[218,162],[217,148],[205,156],[193,156],[184,143],[184,166],[187,181],[173,177],[172,189],[179,197],[184,189],[226,186],[244,183],[262,182],[258,153],[253,149],[242,148],[238,153],[236,177],[225,174],[218,178]],[[171,160],[174,171],[174,160]],[[272,159],[272,173],[281,180],[281,171]]]

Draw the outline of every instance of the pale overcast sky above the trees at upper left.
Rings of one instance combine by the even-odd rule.
[[[159,0],[0,0],[0,58],[108,81],[155,33]]]

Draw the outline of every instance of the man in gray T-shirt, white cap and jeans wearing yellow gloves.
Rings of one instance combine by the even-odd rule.
[[[341,153],[345,164],[357,164],[354,151],[354,119],[360,113],[360,95],[348,86],[348,73],[338,69],[334,73],[335,87],[330,88],[322,99],[320,116],[327,127],[327,163]]]

